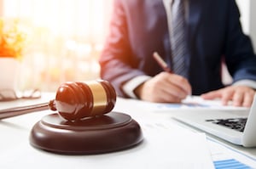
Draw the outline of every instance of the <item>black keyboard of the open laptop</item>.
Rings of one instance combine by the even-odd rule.
[[[238,132],[243,132],[247,123],[247,118],[231,118],[231,119],[211,119],[207,120],[214,124],[218,124],[224,127],[229,127]]]

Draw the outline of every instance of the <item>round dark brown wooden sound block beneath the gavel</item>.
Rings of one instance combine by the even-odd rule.
[[[128,149],[143,134],[130,115],[110,112],[81,121],[66,121],[58,114],[46,115],[30,134],[30,144],[58,154],[89,155]]]

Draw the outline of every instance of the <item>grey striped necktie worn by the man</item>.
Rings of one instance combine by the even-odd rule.
[[[188,73],[184,62],[187,48],[185,42],[185,11],[183,3],[184,0],[172,0],[172,70],[178,75],[187,76]]]

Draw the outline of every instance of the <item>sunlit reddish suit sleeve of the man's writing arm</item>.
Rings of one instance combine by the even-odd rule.
[[[137,66],[137,59],[131,52],[126,20],[129,7],[124,4],[125,1],[113,2],[110,32],[99,59],[102,79],[111,82],[118,95],[122,97],[127,97],[122,91],[123,84],[133,77],[144,75],[143,71],[134,69]]]

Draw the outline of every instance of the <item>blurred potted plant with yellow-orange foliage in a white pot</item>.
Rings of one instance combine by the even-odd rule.
[[[20,60],[26,47],[26,31],[19,19],[0,19],[0,100],[15,91]]]

